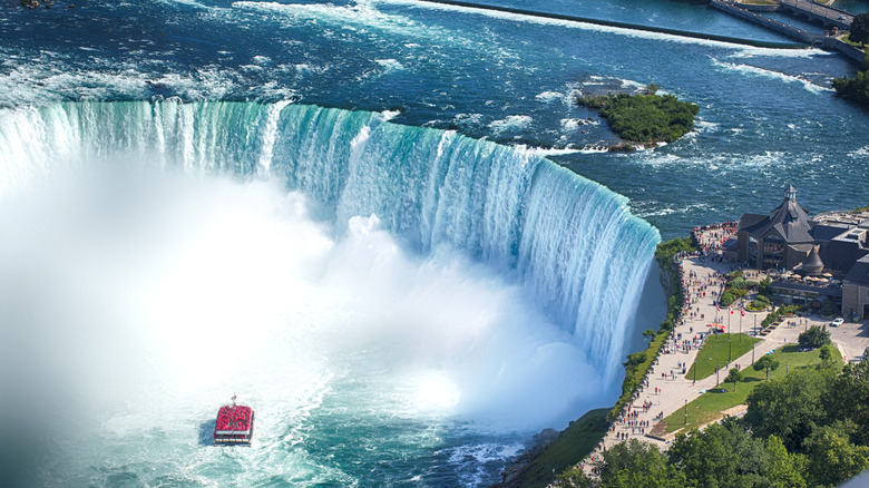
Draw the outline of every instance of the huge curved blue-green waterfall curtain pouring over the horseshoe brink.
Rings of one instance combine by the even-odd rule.
[[[625,197],[545,158],[388,114],[177,100],[0,111],[0,201],[40,176],[118,160],[284,178],[338,233],[375,214],[420,253],[465,250],[525,286],[607,383],[660,241]]]

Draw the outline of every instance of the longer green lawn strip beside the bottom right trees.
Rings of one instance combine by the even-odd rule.
[[[772,355],[779,360],[781,365],[775,371],[770,371],[770,380],[782,378],[788,374],[788,369],[813,368],[820,364],[820,350],[799,352],[799,345],[789,344],[775,350]],[[832,357],[837,364],[842,363],[842,355],[836,347],[832,347]],[[703,426],[721,417],[721,412],[739,404],[745,403],[749,393],[764,381],[765,371],[754,371],[752,368],[742,370],[744,380],[736,384],[736,391],[733,391],[733,383],[721,383],[720,388],[709,390],[687,404],[687,426],[685,424],[685,410],[680,409],[664,419],[666,431],[674,432],[681,428],[685,431],[695,427]],[[722,381],[728,372],[722,371]]]

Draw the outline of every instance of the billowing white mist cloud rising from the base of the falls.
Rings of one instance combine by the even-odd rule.
[[[328,394],[507,431],[594,406],[572,336],[461,251],[408,252],[377,216],[336,237],[274,180],[67,176],[0,207],[0,429],[195,445],[233,392],[263,443]]]

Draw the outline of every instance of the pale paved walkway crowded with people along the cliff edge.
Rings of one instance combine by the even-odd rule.
[[[720,244],[729,237],[722,230],[707,231],[700,235],[701,243],[709,245],[713,252],[717,252]],[[725,332],[730,326],[732,333],[739,333],[742,329],[742,332],[749,335],[758,335],[761,331],[760,323],[767,318],[769,313],[767,311],[756,313],[746,311],[743,316],[735,305],[732,314],[728,309],[716,310],[715,300],[722,291],[723,275],[734,269],[732,263],[719,261],[717,257],[701,262],[699,256],[691,256],[682,260],[681,267],[683,289],[687,291],[685,293],[687,303],[683,308],[682,319],[646,377],[645,385],[639,389],[634,401],[626,409],[626,414],[613,423],[598,449],[584,461],[583,468],[587,472],[592,469],[589,461],[599,458],[601,448],[609,448],[625,439],[641,439],[662,449],[668,447],[672,435],[664,438],[652,438],[646,435],[660,420],[683,409],[686,402],[693,401],[705,390],[716,387],[715,374],[696,383],[682,374],[682,371],[687,371],[693,364],[703,341],[711,333],[710,324],[721,324],[725,328]],[[761,281],[765,277],[762,272],[746,271],[752,273],[749,277],[751,281]],[[791,325],[791,322],[794,324]],[[753,359],[761,358],[783,344],[797,343],[800,332],[809,326],[823,324],[829,324],[829,320],[820,316],[794,318],[790,322],[783,322],[768,335],[760,336],[763,340],[758,343],[753,353],[749,351],[740,358],[733,358],[731,363],[722,364],[720,380],[723,381],[728,371],[736,364],[744,370],[752,364]],[[867,324],[846,323],[829,330],[833,343],[842,352],[846,361],[861,355],[869,347]]]

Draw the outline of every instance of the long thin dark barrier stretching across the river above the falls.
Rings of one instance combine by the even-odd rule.
[[[772,41],[761,41],[754,39],[741,39],[741,38],[729,37],[729,36],[717,36],[714,33],[692,32],[689,30],[668,29],[665,27],[642,26],[642,25],[628,23],[628,22],[616,22],[613,20],[589,19],[586,17],[565,16],[562,13],[536,12],[533,10],[514,9],[510,7],[487,6],[487,4],[471,3],[471,2],[465,2],[459,0],[419,0],[419,1],[428,2],[428,3],[440,3],[440,4],[453,6],[453,7],[465,7],[465,8],[477,9],[477,10],[491,10],[496,12],[516,13],[519,16],[538,17],[544,19],[567,20],[570,22],[583,22],[583,23],[590,23],[595,26],[616,27],[621,29],[642,30],[642,31],[655,32],[655,33],[666,33],[670,36],[687,37],[692,39],[702,39],[702,40],[712,40],[712,41],[720,41],[720,42],[752,46],[755,48],[771,48],[771,49],[808,48],[808,46],[801,43],[794,43],[794,42],[772,42]]]

